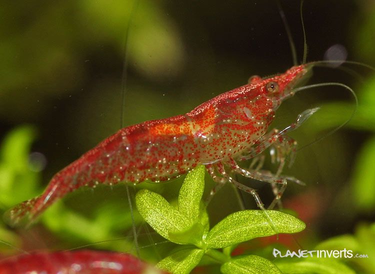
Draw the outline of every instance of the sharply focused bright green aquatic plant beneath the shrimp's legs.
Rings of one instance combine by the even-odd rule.
[[[204,172],[204,166],[198,166],[186,175],[175,206],[150,190],[136,193],[136,206],[145,221],[161,236],[179,244],[156,266],[172,273],[188,273],[206,257],[211,263],[219,263],[223,273],[280,273],[274,263],[261,256],[230,256],[237,244],[274,235],[275,231],[262,210],[234,212],[210,228],[201,201]],[[275,210],[268,210],[268,214],[279,233],[296,233],[305,228],[292,215]]]

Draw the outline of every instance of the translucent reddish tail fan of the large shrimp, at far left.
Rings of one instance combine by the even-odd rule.
[[[5,211],[3,215],[4,221],[12,227],[28,227],[43,210],[35,212],[35,204],[40,199],[40,196],[34,197],[29,200],[25,200],[12,208]]]

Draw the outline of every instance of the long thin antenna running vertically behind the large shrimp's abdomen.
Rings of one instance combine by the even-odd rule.
[[[133,21],[134,14],[136,12],[136,9],[138,7],[139,0],[134,0],[131,12],[129,15],[129,19],[125,28],[125,45],[124,45],[124,58],[123,58],[123,64],[122,64],[122,77],[121,77],[121,118],[120,118],[120,128],[124,126],[124,120],[123,120],[123,114],[125,110],[125,93],[126,93],[126,80],[127,80],[127,64],[128,64],[128,40],[129,40],[129,31],[130,31],[130,25]],[[138,240],[136,235],[136,229],[135,229],[135,220],[134,220],[134,214],[132,210],[132,204],[131,204],[131,198],[129,193],[128,185],[126,184],[126,193],[127,193],[127,200],[129,203],[129,209],[131,212],[131,222],[132,222],[132,230],[134,234],[134,245],[136,249],[137,256],[139,257],[139,246],[138,246]]]

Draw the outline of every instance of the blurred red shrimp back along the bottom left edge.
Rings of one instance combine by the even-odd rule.
[[[35,252],[0,260],[1,274],[137,274],[144,272],[147,268],[149,270],[152,267],[130,254],[94,250]]]

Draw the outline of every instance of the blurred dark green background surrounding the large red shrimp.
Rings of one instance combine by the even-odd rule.
[[[280,73],[292,66],[276,1],[134,3],[1,1],[1,212],[40,193],[55,172],[118,130],[122,92],[123,121],[130,125],[185,113],[243,85],[250,75]],[[300,2],[281,4],[300,62]],[[374,66],[374,10],[372,0],[306,0],[307,60],[327,58],[328,48],[336,45],[333,55],[346,50],[347,59]],[[341,49],[334,51],[337,48]],[[126,77],[122,77],[124,64]],[[351,86],[359,99],[356,115],[338,132],[299,150],[294,165],[284,170],[306,182],[306,186],[289,183],[283,197],[285,207],[296,210],[307,224],[300,236],[305,249],[374,221],[375,76],[358,65],[344,66],[345,70],[314,68],[310,83]],[[342,88],[308,89],[283,103],[274,126],[282,128],[315,106],[321,110],[290,134],[300,146],[344,122],[354,108],[352,97]],[[267,162],[266,168],[275,166]],[[258,188],[263,201],[270,202],[267,184],[239,179]],[[137,187],[153,188],[173,199],[180,182]],[[211,186],[207,176],[206,190]],[[239,209],[236,195],[227,187],[209,205],[211,224]],[[135,189],[129,190],[133,195]],[[240,195],[247,208],[254,208],[252,197]],[[163,239],[154,237],[134,214],[143,257],[157,261],[172,245],[146,247]],[[134,251],[130,227],[126,187],[120,184],[75,191],[28,230],[1,223],[0,239],[25,250],[95,243],[93,248]],[[98,243],[103,240],[110,241]],[[17,251],[0,243],[0,252],[5,256]]]

